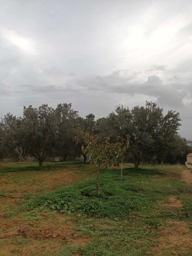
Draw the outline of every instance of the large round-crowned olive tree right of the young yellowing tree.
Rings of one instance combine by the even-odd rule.
[[[130,153],[134,157],[135,168],[140,163],[141,153],[157,155],[166,153],[179,129],[179,113],[169,110],[164,115],[164,110],[155,102],[147,102],[145,106],[135,106],[132,109],[117,106],[115,112],[106,118],[97,120],[96,130],[101,137],[105,137],[110,130],[115,137],[130,136]]]

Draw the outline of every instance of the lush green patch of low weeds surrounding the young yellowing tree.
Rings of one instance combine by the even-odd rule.
[[[149,173],[138,170],[136,174],[134,169],[127,168],[121,179],[117,170],[106,170],[99,178],[99,197],[95,189],[95,179],[92,179],[76,182],[72,186],[24,202],[21,209],[31,210],[46,206],[68,214],[81,213],[91,217],[124,217],[133,213],[157,216],[162,212],[155,209],[157,200],[168,195],[180,195],[186,190],[192,192],[192,186],[188,185],[186,188],[181,181],[167,176],[161,177],[161,182],[154,181],[153,176],[157,173],[158,170]]]

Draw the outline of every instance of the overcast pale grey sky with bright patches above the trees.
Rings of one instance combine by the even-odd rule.
[[[192,139],[191,0],[0,0],[0,117],[72,103],[180,113]]]

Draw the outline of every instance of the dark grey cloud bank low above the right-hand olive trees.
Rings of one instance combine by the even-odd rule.
[[[185,107],[183,99],[187,93],[192,98],[192,86],[190,84],[163,84],[163,81],[155,75],[148,77],[146,82],[132,82],[131,79],[132,77],[122,77],[120,71],[115,71],[108,76],[84,78],[78,82],[85,90],[89,88],[93,91],[101,90],[133,96],[135,94],[154,96],[160,105],[172,108]]]

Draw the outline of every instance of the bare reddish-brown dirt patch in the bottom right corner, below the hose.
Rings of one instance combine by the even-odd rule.
[[[152,248],[152,251],[162,253],[169,249],[169,255],[175,251],[175,246],[179,247],[181,251],[187,251],[192,246],[192,237],[190,230],[186,227],[184,221],[167,221],[165,227],[158,229],[156,238],[157,245]]]

